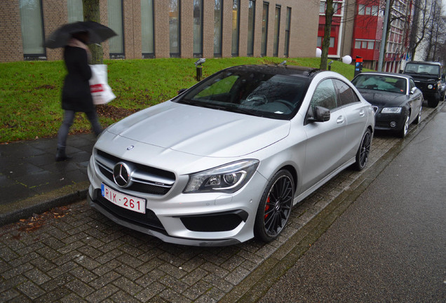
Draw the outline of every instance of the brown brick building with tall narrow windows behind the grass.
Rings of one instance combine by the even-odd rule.
[[[308,0],[99,0],[118,36],[104,58],[313,57],[318,4]],[[316,3],[316,4],[315,4]],[[0,62],[61,60],[43,42],[83,20],[82,0],[2,0]]]

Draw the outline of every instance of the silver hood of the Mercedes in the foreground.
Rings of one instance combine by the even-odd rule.
[[[167,101],[108,128],[114,135],[196,156],[250,154],[290,132],[290,121]]]

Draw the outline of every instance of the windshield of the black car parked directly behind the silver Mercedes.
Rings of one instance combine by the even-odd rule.
[[[406,79],[396,76],[376,75],[376,74],[359,74],[351,81],[356,88],[383,90],[391,93],[406,93]]]

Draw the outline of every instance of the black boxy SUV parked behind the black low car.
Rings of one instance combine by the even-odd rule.
[[[412,76],[415,85],[423,92],[429,107],[436,107],[440,102],[441,64],[439,62],[408,62],[403,74]]]

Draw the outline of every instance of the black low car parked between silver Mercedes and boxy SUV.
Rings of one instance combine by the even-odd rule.
[[[352,81],[375,112],[376,130],[391,130],[405,137],[410,123],[421,120],[423,94],[411,76],[387,72],[363,72]]]

